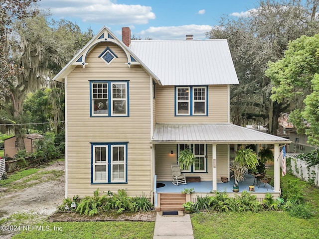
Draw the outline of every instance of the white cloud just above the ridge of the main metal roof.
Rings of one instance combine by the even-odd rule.
[[[153,40],[185,40],[187,34],[194,35],[194,40],[207,39],[205,32],[212,29],[210,25],[183,25],[183,26],[160,26],[149,27],[135,35],[142,38],[149,37]]]

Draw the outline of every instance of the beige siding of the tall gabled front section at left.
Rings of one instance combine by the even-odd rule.
[[[109,46],[118,56],[107,65],[98,56]],[[124,51],[112,43],[100,43],[67,77],[68,197],[127,189],[131,196],[151,192],[150,76],[140,67],[125,65]],[[89,80],[129,80],[130,117],[91,117]],[[128,142],[128,183],[91,184],[90,142]]]

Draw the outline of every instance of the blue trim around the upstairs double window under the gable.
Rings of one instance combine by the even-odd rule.
[[[89,80],[90,82],[90,117],[130,117],[130,86],[129,80],[115,80],[115,81],[106,81],[106,80]],[[93,83],[107,83],[108,84],[108,115],[107,116],[99,116],[92,114],[92,84]],[[112,92],[111,85],[112,83],[126,83],[127,88],[127,115],[125,116],[112,116],[111,115],[111,104],[112,104]]]

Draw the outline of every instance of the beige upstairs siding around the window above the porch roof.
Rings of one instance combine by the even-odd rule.
[[[157,86],[156,120],[158,123],[220,123],[228,122],[228,87],[208,87],[208,116],[175,117],[174,86]]]

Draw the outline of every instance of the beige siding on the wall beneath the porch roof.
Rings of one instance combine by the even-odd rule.
[[[170,154],[173,151],[173,154]],[[198,176],[201,181],[212,181],[212,145],[207,145],[207,173],[185,173],[186,176]],[[171,164],[175,164],[176,144],[155,145],[155,173],[158,181],[171,181]],[[228,177],[228,145],[217,145],[217,180]]]

